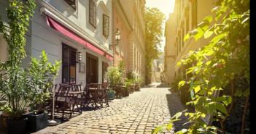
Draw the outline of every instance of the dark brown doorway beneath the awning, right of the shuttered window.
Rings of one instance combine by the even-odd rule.
[[[98,83],[98,57],[86,53],[86,83]]]

